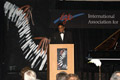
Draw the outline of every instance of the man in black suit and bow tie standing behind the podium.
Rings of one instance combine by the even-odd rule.
[[[65,31],[65,26],[62,23],[58,24],[58,32],[54,33],[51,38],[51,44],[70,44],[72,43],[72,34]]]

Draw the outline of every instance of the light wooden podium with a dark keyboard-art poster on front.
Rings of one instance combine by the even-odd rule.
[[[47,80],[56,80],[62,71],[74,73],[74,44],[50,44],[47,71]]]

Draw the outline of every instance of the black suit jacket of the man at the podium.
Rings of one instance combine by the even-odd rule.
[[[70,43],[73,43],[72,34],[71,32],[68,32],[68,31],[65,31],[63,41],[61,39],[59,32],[54,33],[51,38],[51,44],[70,44]]]

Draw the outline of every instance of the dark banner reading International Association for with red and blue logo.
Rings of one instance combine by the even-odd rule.
[[[119,28],[120,11],[106,10],[51,10],[50,28],[59,22],[67,28]]]

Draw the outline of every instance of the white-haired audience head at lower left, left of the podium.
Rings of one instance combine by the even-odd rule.
[[[24,73],[24,80],[37,80],[36,73],[33,70],[28,70]]]

